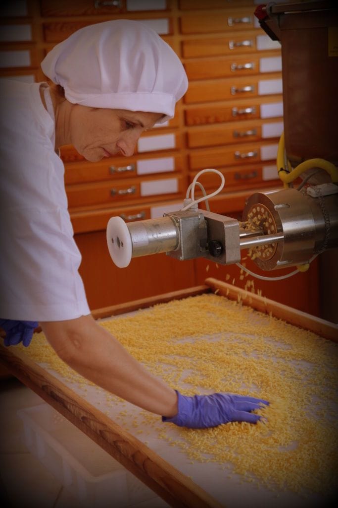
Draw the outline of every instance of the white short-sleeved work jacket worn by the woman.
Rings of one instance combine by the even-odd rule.
[[[0,84],[0,317],[62,321],[90,313],[73,239],[53,111],[41,83]]]

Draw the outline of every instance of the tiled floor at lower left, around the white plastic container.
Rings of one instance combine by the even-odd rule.
[[[27,449],[19,409],[44,401],[15,378],[0,379],[0,501],[12,508],[82,508],[79,499],[63,487],[51,472]],[[81,431],[79,430],[79,433]],[[155,494],[154,494],[155,496]],[[120,508],[111,499],[96,508]],[[154,497],[133,504],[133,508],[165,508]],[[93,508],[95,508],[93,506]]]

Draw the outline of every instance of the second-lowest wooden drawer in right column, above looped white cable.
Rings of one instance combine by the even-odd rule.
[[[251,143],[232,145],[225,148],[194,150],[189,154],[190,169],[200,171],[204,168],[240,166],[260,161],[276,160],[277,143]]]

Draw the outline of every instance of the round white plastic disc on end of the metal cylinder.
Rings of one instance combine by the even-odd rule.
[[[121,217],[110,217],[107,224],[107,245],[112,261],[125,268],[131,260],[132,243],[129,229]]]

